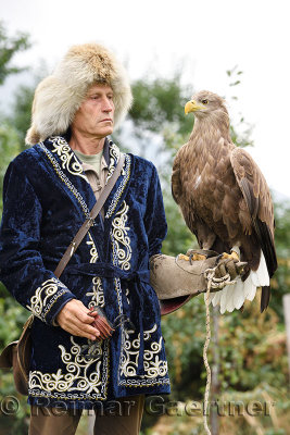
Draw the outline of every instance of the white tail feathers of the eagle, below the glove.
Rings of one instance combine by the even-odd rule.
[[[217,304],[220,306],[222,314],[226,311],[232,312],[235,309],[239,310],[245,299],[251,301],[254,299],[257,287],[269,285],[267,265],[262,251],[257,270],[255,272],[251,271],[244,282],[241,281],[240,276],[236,281],[236,284],[228,285],[223,290],[210,295],[212,304],[214,307]]]

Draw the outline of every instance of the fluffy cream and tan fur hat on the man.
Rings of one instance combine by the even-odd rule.
[[[93,83],[112,87],[117,126],[133,102],[127,74],[106,48],[84,44],[72,47],[52,75],[37,86],[26,144],[35,145],[49,136],[64,134]]]

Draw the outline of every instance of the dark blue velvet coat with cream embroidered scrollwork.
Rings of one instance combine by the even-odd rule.
[[[109,139],[108,179],[119,158]],[[160,308],[149,284],[149,258],[166,235],[154,165],[126,154],[116,185],[60,279],[55,270],[96,203],[80,161],[55,136],[17,156],[3,185],[0,279],[35,314],[28,402],[91,408],[96,401],[136,394],[169,393]],[[127,314],[93,359],[81,353],[86,338],[52,322],[71,299],[102,307],[111,322]]]

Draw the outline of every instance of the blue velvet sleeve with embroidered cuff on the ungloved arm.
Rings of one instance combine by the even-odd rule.
[[[0,228],[0,279],[14,298],[48,324],[76,298],[43,265],[38,250],[42,209],[33,185],[15,162],[3,183],[3,214]]]

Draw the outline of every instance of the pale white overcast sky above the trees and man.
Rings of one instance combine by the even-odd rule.
[[[17,65],[30,65],[28,75],[41,61],[50,72],[70,46],[89,41],[114,50],[131,79],[148,74],[171,77],[181,65],[182,80],[192,85],[192,94],[207,89],[225,96],[231,117],[242,114],[254,126],[254,147],[248,151],[269,187],[290,198],[288,3],[0,0],[0,20],[10,35],[16,30],[30,34],[33,47],[14,60]],[[243,74],[234,88],[226,71],[236,65]],[[20,80],[10,78],[0,88],[2,103]]]

